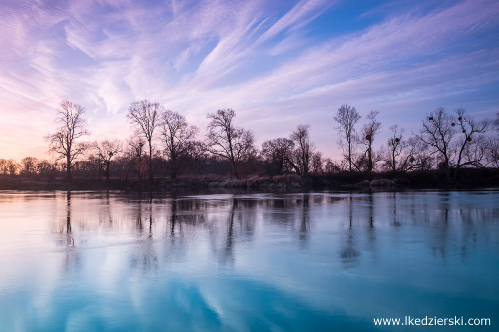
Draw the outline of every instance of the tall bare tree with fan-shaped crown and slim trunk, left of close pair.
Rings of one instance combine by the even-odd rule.
[[[138,128],[138,134],[144,137],[149,143],[149,182],[152,182],[153,180],[152,141],[155,137],[154,131],[160,126],[161,113],[163,110],[163,107],[159,103],[151,103],[146,99],[140,102],[133,102],[130,105],[127,114],[129,122]]]

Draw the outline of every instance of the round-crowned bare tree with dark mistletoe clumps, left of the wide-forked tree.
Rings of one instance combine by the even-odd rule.
[[[418,137],[423,143],[437,153],[442,159],[442,167],[449,179],[450,163],[453,160],[452,139],[456,135],[456,130],[452,125],[454,117],[448,114],[443,107],[432,111],[422,121],[423,128]]]

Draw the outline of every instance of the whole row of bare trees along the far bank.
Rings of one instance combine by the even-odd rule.
[[[178,112],[166,110],[148,100],[130,105],[127,118],[135,132],[126,141],[88,141],[84,109],[62,101],[57,109],[57,130],[45,139],[53,160],[0,159],[0,174],[55,180],[73,177],[118,178],[125,183],[152,183],[155,178],[179,175],[248,176],[362,174],[372,179],[375,172],[392,175],[410,171],[440,170],[446,182],[457,181],[463,167],[498,168],[499,113],[495,120],[476,121],[465,109],[431,111],[421,120],[417,133],[406,134],[396,124],[390,138],[375,149],[382,124],[378,111],[370,111],[362,124],[361,115],[342,105],[332,116],[337,143],[343,158],[325,158],[310,139],[310,126],[300,124],[288,137],[255,145],[253,131],[235,123],[232,109],[208,113],[206,137]],[[334,137],[331,137],[334,139]],[[353,177],[352,177],[353,178]],[[358,178],[358,177],[356,177]]]

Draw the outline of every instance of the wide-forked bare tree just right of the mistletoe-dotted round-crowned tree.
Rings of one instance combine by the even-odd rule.
[[[466,114],[466,109],[457,109],[456,115],[458,116],[457,120],[461,127],[462,134],[457,142],[456,150],[459,152],[457,154],[456,168],[454,169],[454,180],[457,179],[458,171],[461,167],[467,165],[481,165],[481,160],[485,154],[485,140],[481,139],[475,144],[473,139],[476,134],[485,133],[489,128],[489,120],[485,119],[480,122],[475,122],[471,116]],[[451,122],[451,126],[455,125],[455,122]]]

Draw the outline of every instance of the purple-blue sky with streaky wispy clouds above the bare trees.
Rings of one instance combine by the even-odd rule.
[[[0,158],[49,158],[61,100],[85,108],[89,140],[133,133],[149,99],[206,133],[236,111],[257,145],[310,125],[339,157],[334,112],[379,111],[417,132],[426,113],[499,111],[499,1],[0,0]]]

